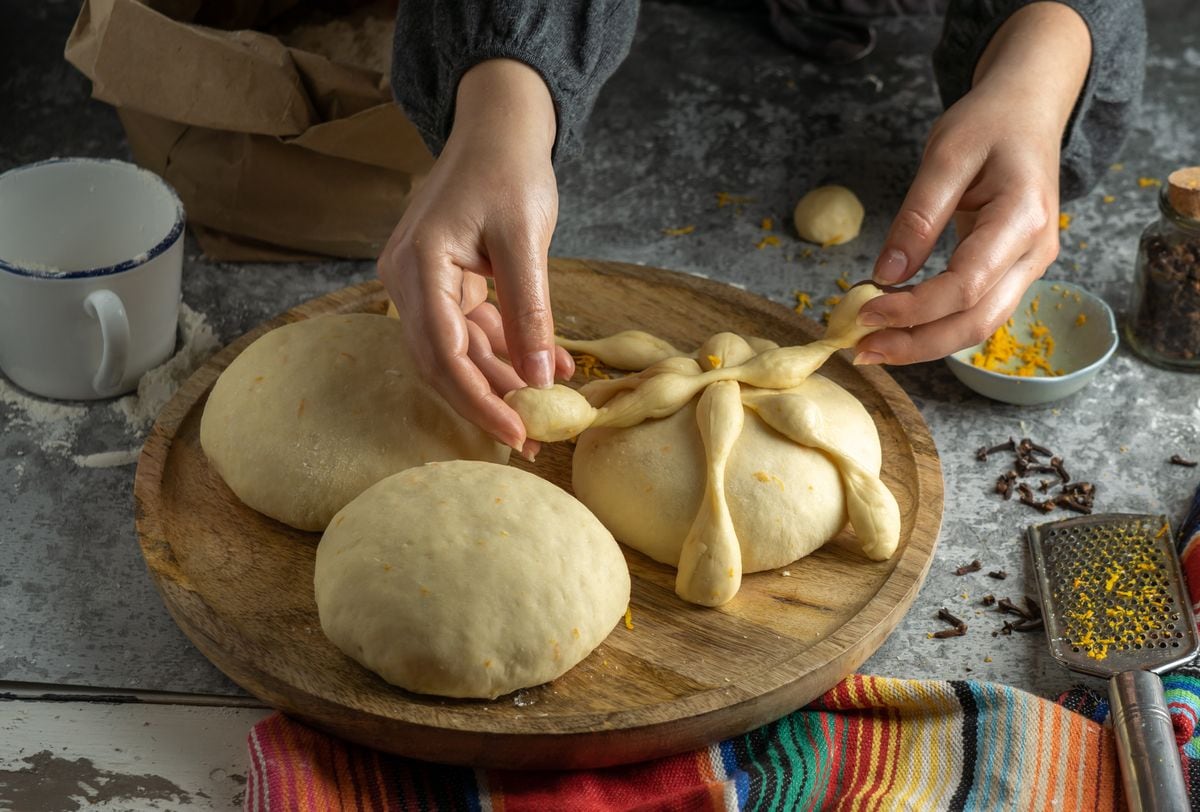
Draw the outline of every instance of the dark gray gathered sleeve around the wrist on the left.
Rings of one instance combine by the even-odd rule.
[[[636,0],[402,0],[392,95],[437,155],[450,136],[462,74],[487,59],[522,61],[554,101],[558,160],[578,144],[636,23]]]

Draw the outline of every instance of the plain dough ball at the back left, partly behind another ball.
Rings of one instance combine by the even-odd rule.
[[[421,380],[400,321],[366,313],[295,321],[242,350],[209,395],[200,445],[239,499],[301,530],[406,468],[509,458]]]

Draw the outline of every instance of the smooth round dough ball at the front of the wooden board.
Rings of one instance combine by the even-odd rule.
[[[448,697],[562,675],[629,605],[625,559],[587,507],[480,462],[368,488],[330,522],[313,583],[337,648],[394,685]]]

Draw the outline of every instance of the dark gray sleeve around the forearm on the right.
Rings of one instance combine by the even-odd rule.
[[[934,70],[949,107],[971,89],[976,64],[1004,20],[1033,0],[950,0]],[[1134,125],[1146,72],[1146,16],[1140,0],[1058,0],[1092,35],[1092,65],[1063,136],[1060,194],[1091,190]]]

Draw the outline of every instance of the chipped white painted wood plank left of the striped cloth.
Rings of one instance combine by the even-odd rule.
[[[0,702],[0,810],[240,810],[246,735],[270,712]]]

